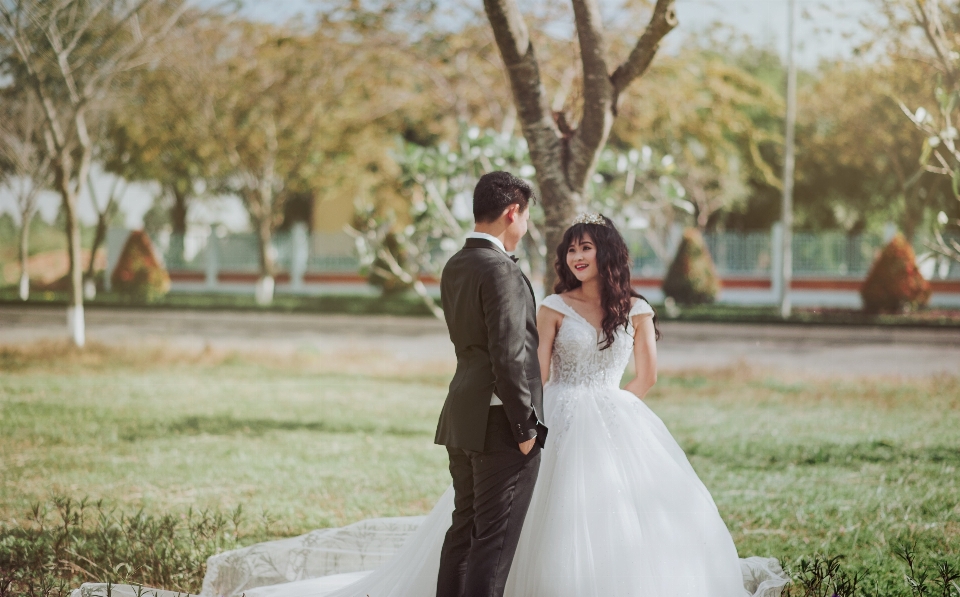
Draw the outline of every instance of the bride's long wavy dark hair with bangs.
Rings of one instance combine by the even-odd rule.
[[[632,297],[647,301],[630,285],[630,251],[623,241],[620,232],[610,218],[601,216],[606,225],[601,224],[574,224],[563,233],[563,240],[557,245],[557,260],[554,268],[557,271],[557,283],[553,287],[555,294],[580,288],[582,283],[567,266],[567,251],[575,242],[583,240],[589,235],[597,250],[597,270],[600,283],[600,306],[603,308],[603,344],[600,350],[610,348],[613,344],[617,328],[626,328],[630,321]],[[652,308],[652,307],[651,307]],[[657,313],[653,313],[653,329],[656,339],[660,339],[660,327],[657,322]]]

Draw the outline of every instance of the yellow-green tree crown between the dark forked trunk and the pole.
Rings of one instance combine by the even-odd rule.
[[[703,231],[743,210],[751,197],[779,191],[783,99],[742,64],[763,56],[760,50],[725,48],[712,38],[685,45],[626,94],[611,136],[672,157]]]

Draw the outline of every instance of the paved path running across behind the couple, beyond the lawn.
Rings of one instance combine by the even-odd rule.
[[[665,370],[745,364],[818,377],[960,375],[957,329],[666,322],[662,330],[660,366]],[[62,309],[0,307],[0,345],[65,335]],[[358,365],[369,359],[417,369],[453,365],[444,324],[427,318],[88,309],[87,337],[109,345],[309,351]]]

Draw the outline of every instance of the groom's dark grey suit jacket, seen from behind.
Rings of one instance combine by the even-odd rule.
[[[542,446],[547,428],[541,423],[536,303],[526,276],[490,241],[467,239],[443,268],[440,298],[457,372],[434,441],[483,451],[495,392],[517,443],[538,437]]]

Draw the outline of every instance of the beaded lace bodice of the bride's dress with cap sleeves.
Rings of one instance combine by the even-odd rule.
[[[609,348],[600,350],[601,333],[559,295],[551,294],[542,304],[564,316],[553,341],[550,381],[574,386],[619,387],[633,353],[632,321],[627,329],[617,330]],[[630,310],[630,317],[643,313],[653,313],[653,309],[641,299]]]

